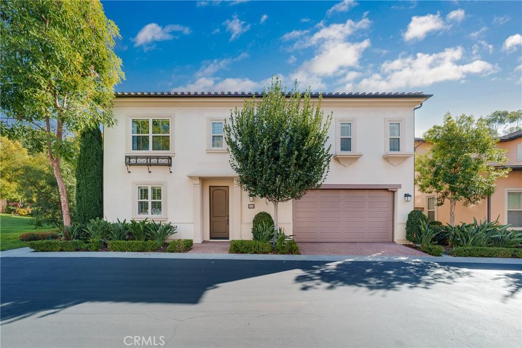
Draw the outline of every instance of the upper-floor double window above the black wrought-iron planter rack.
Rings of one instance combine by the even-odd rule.
[[[133,151],[169,151],[169,118],[135,118],[132,120]]]

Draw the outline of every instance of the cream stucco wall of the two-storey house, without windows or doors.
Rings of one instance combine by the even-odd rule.
[[[386,121],[402,122],[401,152],[413,153],[413,107],[421,100],[338,100],[323,101],[325,114],[333,112],[330,142],[335,152],[336,119],[354,119],[357,152],[362,157],[353,164],[342,166],[332,160],[325,184],[389,184],[401,185],[395,193],[395,240],[405,241],[405,224],[413,201],[406,202],[404,194],[414,193],[413,157],[396,166],[383,158],[386,152]],[[193,238],[195,242],[208,239],[208,186],[230,188],[230,237],[250,238],[254,215],[259,211],[273,213],[271,203],[254,198],[255,209],[233,181],[226,152],[207,151],[209,118],[227,118],[230,109],[241,107],[242,100],[191,99],[158,100],[124,98],[114,101],[117,125],[104,129],[104,214],[108,220],[137,218],[133,214],[133,190],[137,183],[162,182],[166,185],[165,219],[178,226],[176,238]],[[134,154],[131,145],[131,118],[157,116],[171,119],[172,173],[167,167],[125,167],[125,155]],[[149,154],[156,154],[150,152]],[[213,175],[216,174],[216,175]],[[199,178],[198,178],[199,177]],[[279,206],[279,221],[288,234],[292,233],[292,202]]]

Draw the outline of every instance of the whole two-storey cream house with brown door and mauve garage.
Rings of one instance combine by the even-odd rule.
[[[174,237],[195,243],[250,239],[254,215],[274,207],[238,186],[223,123],[252,96],[117,93],[117,124],[103,137],[106,219],[170,221]],[[413,113],[430,97],[324,94],[325,115],[334,113],[334,158],[321,189],[279,205],[286,233],[309,242],[404,242],[413,209]]]

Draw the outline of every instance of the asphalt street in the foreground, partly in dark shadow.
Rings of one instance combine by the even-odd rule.
[[[522,345],[522,267],[3,257],[7,347]]]

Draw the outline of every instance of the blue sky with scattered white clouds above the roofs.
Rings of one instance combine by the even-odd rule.
[[[522,2],[103,2],[117,91],[423,91],[416,135],[453,114],[522,109]]]

